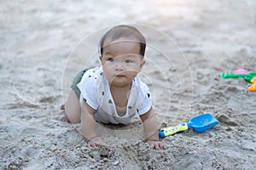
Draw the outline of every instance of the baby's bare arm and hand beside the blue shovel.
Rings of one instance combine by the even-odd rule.
[[[156,150],[163,150],[163,142],[159,138],[159,127],[154,111],[151,108],[147,113],[140,116],[143,121],[143,128],[146,140]]]

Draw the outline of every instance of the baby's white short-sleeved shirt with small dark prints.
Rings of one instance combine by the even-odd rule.
[[[101,65],[86,71],[78,87],[81,97],[96,110],[97,122],[129,124],[134,122],[138,115],[149,111],[152,106],[147,85],[139,77],[135,77],[132,80],[125,116],[119,116]]]

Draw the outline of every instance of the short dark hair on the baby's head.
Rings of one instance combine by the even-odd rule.
[[[122,37],[129,37],[131,40],[135,40],[136,42],[140,43],[140,54],[144,56],[145,54],[145,49],[146,49],[146,40],[145,37],[143,37],[143,34],[137,30],[137,28],[132,27],[132,26],[115,26],[109,31],[107,31],[104,36],[102,37],[100,41],[100,50],[101,54],[103,52],[103,44],[104,42],[113,42],[115,40],[118,40]]]

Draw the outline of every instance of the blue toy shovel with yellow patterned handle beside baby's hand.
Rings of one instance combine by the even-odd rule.
[[[193,127],[195,132],[202,133],[215,125],[218,124],[218,120],[211,114],[203,114],[199,116],[192,117],[189,122],[182,122],[176,127],[166,127],[161,128],[159,131],[160,138],[166,138],[175,133],[183,132],[188,130],[190,127]]]

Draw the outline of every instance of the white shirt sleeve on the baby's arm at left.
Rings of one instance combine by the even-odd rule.
[[[91,71],[86,71],[82,78],[82,81],[77,85],[81,91],[82,98],[88,105],[94,110],[97,110],[99,104],[96,99],[96,79],[92,77]]]

